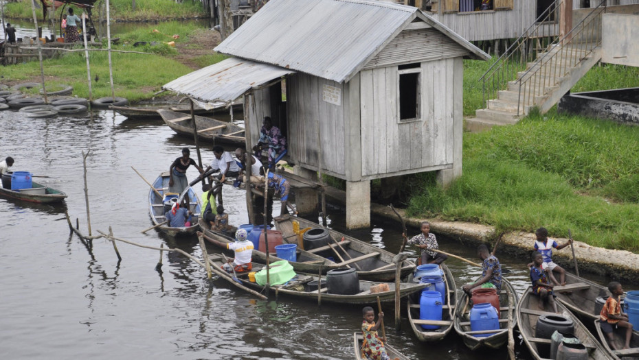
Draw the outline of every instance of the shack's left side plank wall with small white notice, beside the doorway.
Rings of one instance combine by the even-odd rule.
[[[325,84],[340,89],[339,106],[322,99]],[[318,152],[322,151],[322,169],[335,176],[345,176],[344,91],[346,87],[344,84],[303,73],[288,77],[289,156],[295,164],[317,169]],[[318,123],[321,140],[317,137]]]

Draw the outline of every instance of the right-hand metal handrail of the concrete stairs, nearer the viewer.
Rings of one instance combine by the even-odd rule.
[[[587,51],[583,54],[583,56],[581,58],[579,58],[577,61],[574,62],[574,64],[572,63],[574,59],[574,54],[573,53],[573,49],[574,47],[572,45],[574,45],[574,39],[576,39],[579,35],[581,35],[581,38],[583,39],[583,34],[585,31],[590,30],[591,34],[591,38],[592,38],[592,32],[594,31],[594,27],[590,26],[587,27],[587,25],[590,25],[591,23],[593,23],[594,21],[598,20],[599,18],[596,18],[595,16],[600,15],[602,12],[605,12],[607,9],[607,4],[606,4],[606,0],[602,0],[601,3],[599,3],[599,5],[597,5],[596,8],[594,8],[594,10],[592,10],[592,12],[590,12],[589,14],[587,14],[587,16],[585,16],[585,18],[583,18],[577,25],[575,25],[574,27],[572,27],[572,29],[570,29],[570,32],[568,32],[568,34],[565,34],[562,38],[558,38],[556,40],[554,40],[550,45],[548,45],[548,47],[546,48],[547,51],[546,53],[543,54],[543,56],[541,56],[541,58],[539,58],[539,60],[535,61],[535,63],[533,64],[532,67],[530,67],[530,69],[526,70],[526,72],[524,73],[524,75],[522,75],[521,77],[519,77],[516,81],[515,84],[519,83],[519,94],[517,95],[517,115],[520,114],[519,110],[522,107],[522,86],[525,86],[526,84],[528,84],[528,91],[525,91],[526,89],[524,88],[524,104],[526,104],[526,97],[529,95],[530,93],[530,83],[529,80],[533,78],[533,76],[537,77],[539,75],[539,73],[541,72],[542,69],[546,69],[546,64],[548,64],[553,58],[555,59],[555,67],[554,70],[550,70],[548,74],[543,74],[543,75],[549,75],[548,77],[546,77],[548,79],[548,86],[554,86],[555,84],[557,84],[557,78],[559,77],[563,77],[565,76],[566,73],[568,73],[570,71],[570,69],[572,67],[574,67],[576,64],[579,64],[579,62],[581,62],[587,55],[589,55],[590,53],[592,53],[592,51],[598,47],[599,45],[601,45],[601,38],[599,37],[599,33],[597,33],[597,38],[595,41],[595,45],[593,47],[591,47],[590,49],[587,49]],[[562,45],[563,44],[563,45]],[[561,46],[559,46],[561,45]],[[557,75],[557,58],[558,58],[558,54],[560,53],[568,53],[568,49],[570,46],[570,51],[571,51],[571,55],[570,55],[570,67],[568,67],[568,65],[564,62],[563,64],[563,73],[561,73],[561,70],[559,70],[559,75]],[[554,49],[553,49],[554,48]],[[561,67],[561,65],[559,65],[559,67]],[[550,73],[552,72],[552,73]],[[552,82],[551,80],[552,79]],[[542,80],[543,81],[543,86],[539,86],[539,88],[546,88],[546,80]],[[537,89],[539,91],[539,89]],[[537,94],[533,95],[533,101],[534,101],[534,96],[536,96]],[[538,95],[543,95],[543,94],[538,94]]]

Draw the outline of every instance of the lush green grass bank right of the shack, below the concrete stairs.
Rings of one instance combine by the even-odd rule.
[[[477,103],[467,75],[473,71],[464,74],[464,108],[480,108],[481,86]],[[603,65],[573,91],[636,86],[637,78],[636,68]],[[434,173],[412,176],[408,211],[499,231],[545,226],[551,236],[568,237],[571,229],[590,245],[639,252],[638,138],[638,127],[563,115],[556,108],[517,125],[464,133],[463,175],[445,190]]]

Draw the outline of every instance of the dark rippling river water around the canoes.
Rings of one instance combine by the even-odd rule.
[[[82,151],[87,158],[91,228],[146,245],[164,243],[201,256],[197,239],[174,241],[151,225],[148,186],[167,171],[191,139],[175,135],[161,121],[131,121],[111,112],[89,117],[26,119],[0,112],[0,158],[13,156],[12,170],[31,171],[69,198],[58,206],[0,200],[0,354],[4,359],[352,359],[351,337],[360,307],[318,308],[311,302],[255,300],[223,280],[209,286],[205,272],[179,254],[164,253],[164,274],[155,272],[159,254],[99,239],[89,252],[69,235],[64,211],[80,218],[87,233]],[[203,149],[208,163],[212,145]],[[195,152],[192,151],[195,157]],[[190,169],[192,178],[197,172]],[[197,189],[200,193],[199,189]],[[244,193],[225,189],[233,224],[244,224]],[[275,209],[277,212],[278,209]],[[329,207],[330,226],[343,227],[343,210]],[[352,232],[360,239],[399,250],[397,224],[377,222]],[[415,229],[410,232],[416,233]],[[474,257],[474,249],[440,237],[444,250]],[[214,248],[209,248],[214,252]],[[527,261],[503,259],[518,291],[528,286]],[[458,286],[479,274],[465,263],[447,261]],[[607,279],[598,279],[605,282]],[[389,329],[392,305],[385,306]],[[389,341],[412,359],[506,359],[505,350],[473,353],[451,334],[440,344],[421,344],[403,322]],[[526,359],[526,350],[518,348]]]

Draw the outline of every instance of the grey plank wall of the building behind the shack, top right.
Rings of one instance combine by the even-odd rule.
[[[517,38],[537,19],[537,1],[515,0],[513,10],[445,12],[431,14],[435,19],[469,41]],[[548,36],[557,34],[548,26]]]

